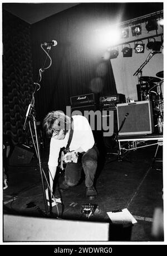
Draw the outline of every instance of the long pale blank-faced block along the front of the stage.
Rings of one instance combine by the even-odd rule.
[[[3,216],[4,241],[109,241],[109,223]]]

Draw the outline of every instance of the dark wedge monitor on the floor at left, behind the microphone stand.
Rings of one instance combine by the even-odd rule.
[[[27,146],[15,146],[11,157],[9,158],[9,165],[29,164],[34,153]]]

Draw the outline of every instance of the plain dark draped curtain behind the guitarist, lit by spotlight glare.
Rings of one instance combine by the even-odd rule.
[[[116,94],[110,60],[102,59],[96,47],[96,29],[116,16],[106,4],[80,4],[32,26],[34,77],[42,66],[45,53],[41,42],[56,40],[50,51],[52,66],[43,73],[41,89],[36,93],[37,117],[41,120],[48,111],[65,110],[70,97],[95,93]],[[48,62],[47,62],[48,63]]]

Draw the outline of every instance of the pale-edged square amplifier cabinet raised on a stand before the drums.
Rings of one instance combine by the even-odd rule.
[[[117,124],[119,135],[152,134],[154,132],[153,109],[151,101],[117,104]]]

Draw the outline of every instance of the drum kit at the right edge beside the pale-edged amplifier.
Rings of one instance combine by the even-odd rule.
[[[163,122],[164,116],[164,98],[161,84],[164,83],[164,71],[156,73],[156,77],[140,77],[140,79],[141,101],[150,100],[152,102],[155,124],[161,133],[163,132],[163,126],[160,124]]]

